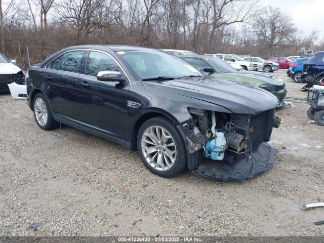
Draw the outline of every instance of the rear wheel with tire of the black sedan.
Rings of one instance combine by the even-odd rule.
[[[37,125],[43,130],[51,130],[57,123],[53,119],[50,105],[42,93],[38,93],[33,101],[34,117]]]

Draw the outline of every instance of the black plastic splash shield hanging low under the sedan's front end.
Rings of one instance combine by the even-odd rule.
[[[262,143],[252,151],[253,163],[251,158],[249,158],[249,160],[247,160],[247,158],[234,158],[232,163],[222,165],[213,161],[213,167],[204,163],[200,164],[198,168],[192,172],[214,180],[246,180],[269,170],[269,168],[274,164],[277,152],[278,150],[276,148],[271,147],[267,143]],[[211,164],[210,161],[209,164]],[[252,165],[253,167],[251,170]]]

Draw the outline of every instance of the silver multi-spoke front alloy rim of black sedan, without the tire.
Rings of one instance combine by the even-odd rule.
[[[148,127],[142,135],[141,147],[147,163],[155,170],[167,171],[176,161],[176,144],[163,127]]]

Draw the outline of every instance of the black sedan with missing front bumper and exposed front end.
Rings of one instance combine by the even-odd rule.
[[[186,168],[242,180],[275,160],[276,97],[203,76],[166,53],[129,46],[63,49],[27,74],[28,104],[44,130],[63,123],[138,150],[156,175]],[[209,168],[206,160],[220,160]],[[132,165],[130,165],[132,166]]]

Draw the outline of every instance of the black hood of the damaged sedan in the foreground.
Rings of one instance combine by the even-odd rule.
[[[178,94],[223,106],[233,113],[255,114],[273,109],[277,98],[269,92],[244,83],[215,77],[189,77],[169,81],[143,82],[159,91]]]

